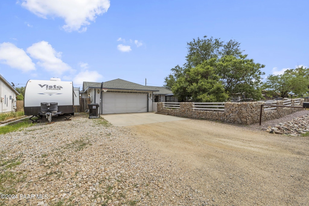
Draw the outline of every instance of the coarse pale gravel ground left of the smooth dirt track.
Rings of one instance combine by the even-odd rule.
[[[193,193],[193,202],[207,201],[126,128],[85,115],[53,120],[0,135],[1,193],[18,196],[3,205],[175,205]]]

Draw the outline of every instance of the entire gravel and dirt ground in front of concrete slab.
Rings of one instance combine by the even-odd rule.
[[[0,191],[18,195],[0,201],[308,205],[308,143],[207,120],[116,127],[76,115],[0,135]]]

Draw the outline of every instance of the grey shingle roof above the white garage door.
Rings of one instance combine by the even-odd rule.
[[[87,87],[100,88],[100,82],[83,82],[83,90],[87,90]],[[146,91],[158,91],[157,89],[149,86],[143,86],[133,82],[125,81],[122,79],[114,79],[108,82],[103,82],[103,88],[108,89],[125,89],[125,90],[146,90]]]

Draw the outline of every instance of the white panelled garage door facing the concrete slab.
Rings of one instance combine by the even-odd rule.
[[[102,104],[103,114],[147,112],[147,95],[103,92]]]

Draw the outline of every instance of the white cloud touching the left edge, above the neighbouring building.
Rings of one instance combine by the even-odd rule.
[[[35,64],[26,52],[10,42],[0,44],[0,63],[19,69],[22,72],[35,70]]]

